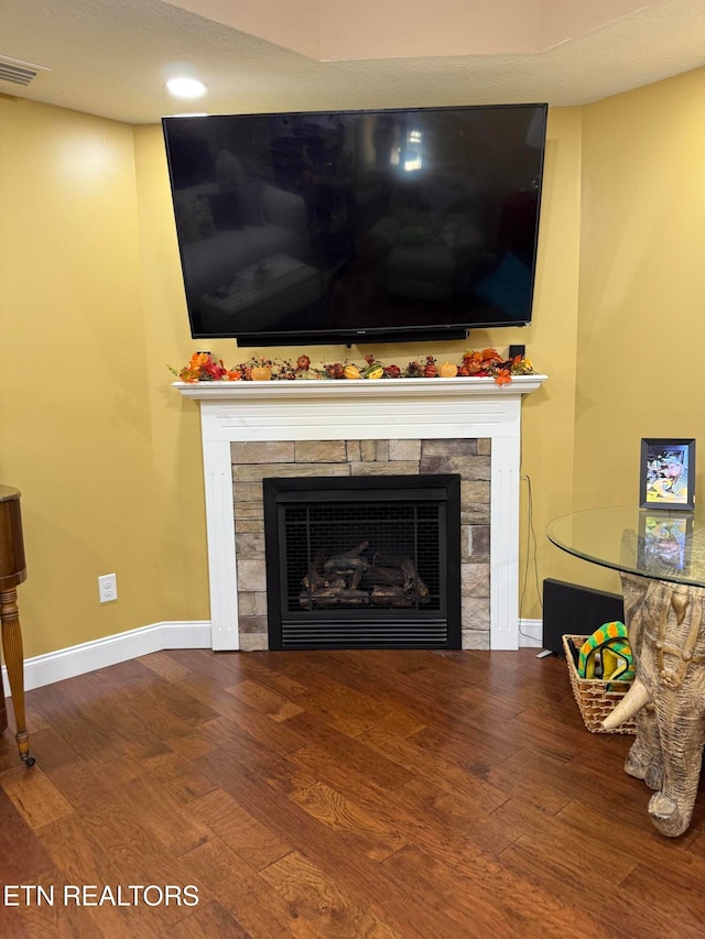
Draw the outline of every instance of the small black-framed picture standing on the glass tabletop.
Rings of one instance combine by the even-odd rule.
[[[695,507],[695,440],[643,437],[641,509]]]

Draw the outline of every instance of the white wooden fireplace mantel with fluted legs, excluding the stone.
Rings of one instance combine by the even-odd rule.
[[[490,647],[518,648],[521,401],[545,380],[174,382],[200,404],[213,648],[239,648],[231,443],[475,437],[491,440]]]

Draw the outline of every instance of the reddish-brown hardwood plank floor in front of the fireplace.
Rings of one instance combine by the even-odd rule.
[[[162,652],[26,697],[2,937],[705,935],[703,795],[660,836],[556,657]]]

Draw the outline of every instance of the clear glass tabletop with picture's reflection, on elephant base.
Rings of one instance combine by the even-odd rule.
[[[620,505],[573,512],[546,535],[575,557],[628,574],[705,587],[705,511]]]

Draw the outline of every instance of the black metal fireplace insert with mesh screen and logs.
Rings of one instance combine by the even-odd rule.
[[[270,648],[460,648],[458,473],[263,493]]]

